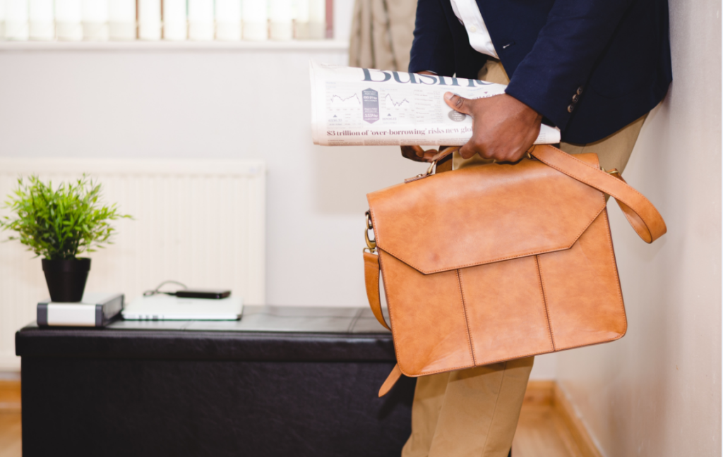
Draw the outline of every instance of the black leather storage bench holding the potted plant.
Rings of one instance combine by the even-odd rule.
[[[395,357],[367,309],[30,325],[15,347],[25,456],[397,457],[409,435],[414,380],[377,398]]]

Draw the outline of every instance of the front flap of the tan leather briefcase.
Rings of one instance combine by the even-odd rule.
[[[596,154],[578,159],[599,167]],[[377,247],[424,274],[568,249],[604,194],[538,160],[440,173],[367,194]]]

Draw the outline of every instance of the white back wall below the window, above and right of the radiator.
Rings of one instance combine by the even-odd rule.
[[[424,165],[395,147],[314,146],[309,58],[348,61],[345,50],[0,52],[0,156],[265,160],[268,303],[366,306],[365,194]],[[552,378],[547,359],[536,377]]]

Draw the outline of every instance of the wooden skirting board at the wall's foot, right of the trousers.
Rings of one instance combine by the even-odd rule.
[[[554,380],[531,380],[527,385],[523,404],[536,406],[552,406],[562,418],[572,435],[582,457],[603,457],[597,448],[585,423],[575,412],[570,399]]]

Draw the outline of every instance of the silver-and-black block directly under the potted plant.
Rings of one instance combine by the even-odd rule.
[[[124,295],[85,293],[79,303],[38,303],[38,326],[105,327],[123,310]]]

